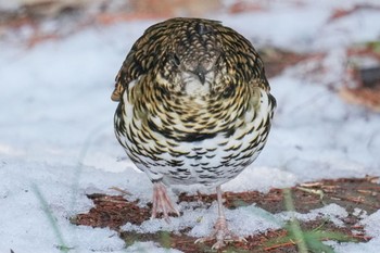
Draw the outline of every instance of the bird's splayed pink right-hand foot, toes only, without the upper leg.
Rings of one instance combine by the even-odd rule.
[[[246,242],[243,237],[239,237],[228,229],[225,217],[218,217],[214,226],[214,231],[208,237],[198,239],[195,243],[203,243],[206,241],[212,241],[214,239],[216,239],[216,242],[212,246],[213,250],[218,250],[225,246],[225,242]]]

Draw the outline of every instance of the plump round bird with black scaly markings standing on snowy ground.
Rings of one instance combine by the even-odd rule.
[[[174,17],[137,39],[115,78],[114,130],[153,184],[152,218],[177,214],[167,188],[215,188],[213,249],[244,241],[230,231],[221,185],[263,150],[276,110],[252,43],[219,21]]]

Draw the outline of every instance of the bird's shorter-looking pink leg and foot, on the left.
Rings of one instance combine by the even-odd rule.
[[[164,219],[169,223],[169,213],[175,213],[179,216],[178,210],[175,207],[167,194],[166,187],[161,181],[153,182],[153,208],[152,218],[157,216],[157,213],[162,212],[164,214]]]

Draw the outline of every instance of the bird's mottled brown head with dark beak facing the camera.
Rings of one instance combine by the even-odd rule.
[[[186,22],[169,35],[157,65],[157,84],[180,96],[212,96],[221,84],[221,37],[217,22]],[[161,66],[161,67],[160,67]]]

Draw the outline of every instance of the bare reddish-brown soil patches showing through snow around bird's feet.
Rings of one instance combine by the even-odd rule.
[[[357,223],[359,218],[353,215],[354,208],[366,211],[371,214],[380,208],[380,185],[378,178],[341,178],[335,180],[320,180],[303,184],[291,189],[294,208],[300,213],[307,213],[311,210],[322,207],[329,203],[335,203],[343,206],[349,212],[349,216],[343,220],[345,227],[337,227],[331,222],[317,219],[307,223],[301,223],[303,231],[311,231],[316,228],[322,228],[324,231],[335,231],[344,233],[357,241],[367,241],[370,238],[365,235],[362,226]],[[316,192],[322,192],[320,198]],[[187,236],[191,228],[183,229],[179,235],[160,231],[156,233],[138,233],[132,231],[122,231],[121,226],[126,223],[140,225],[150,218],[150,204],[139,207],[139,200],[130,202],[121,195],[90,194],[88,195],[94,203],[86,214],[78,214],[72,218],[76,225],[91,227],[110,227],[118,231],[126,244],[132,244],[136,241],[155,241],[164,248],[174,248],[183,252],[215,252],[211,249],[213,241],[195,244],[197,238]],[[270,213],[286,211],[282,189],[271,189],[267,193],[258,191],[246,192],[226,192],[225,206],[227,208],[237,208],[239,206],[256,203]],[[215,194],[187,195],[181,193],[178,202],[198,202],[210,204],[216,200]],[[200,204],[201,205],[201,204]],[[204,207],[204,205],[202,205]],[[199,206],[201,207],[201,206]],[[189,211],[188,211],[189,212]],[[353,235],[352,230],[358,231]],[[297,252],[294,241],[289,239],[286,243],[283,239],[289,236],[286,229],[269,230],[265,233],[252,235],[246,239],[246,243],[230,243],[223,252]],[[329,238],[324,238],[328,240]],[[221,252],[221,251],[220,251]]]

